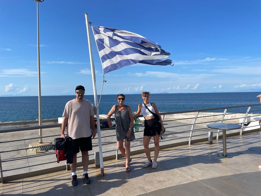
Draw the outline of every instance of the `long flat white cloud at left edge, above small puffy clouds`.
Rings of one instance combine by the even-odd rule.
[[[41,74],[46,72],[41,71]],[[30,71],[29,69],[3,69],[0,72],[0,77],[29,77],[37,76],[38,71]]]

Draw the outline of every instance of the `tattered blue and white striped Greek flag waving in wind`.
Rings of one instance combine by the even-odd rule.
[[[127,65],[172,65],[170,53],[147,38],[125,30],[92,26],[104,74]]]

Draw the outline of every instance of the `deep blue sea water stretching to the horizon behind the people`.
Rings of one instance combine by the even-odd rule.
[[[256,98],[258,94],[260,92],[166,93],[151,94],[150,101],[157,105],[160,112],[173,112],[259,104],[259,98]],[[126,94],[125,96],[125,104],[131,107],[132,112],[136,112],[138,104],[143,101],[141,94]],[[74,98],[75,96],[42,96],[42,119],[61,117],[65,104]],[[93,95],[85,95],[84,98],[94,104]],[[117,104],[117,95],[102,95],[99,113],[107,114],[114,104]],[[246,109],[242,109],[244,110],[242,112]],[[223,111],[223,109],[215,110],[215,112]],[[229,112],[236,111],[238,110],[229,109]],[[0,122],[36,120],[38,116],[38,96],[0,97]]]

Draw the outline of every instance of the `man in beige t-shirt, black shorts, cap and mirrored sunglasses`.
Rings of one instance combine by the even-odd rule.
[[[77,153],[82,153],[83,180],[85,184],[90,184],[88,176],[89,150],[92,150],[92,139],[95,137],[95,121],[92,104],[89,100],[83,99],[85,89],[77,86],[75,89],[76,98],[66,103],[63,113],[63,123],[61,138],[65,138],[64,131],[67,128],[67,136],[73,138],[74,151],[73,163],[70,164],[72,170],[72,185],[77,185],[76,162]],[[92,126],[92,131],[90,128]]]

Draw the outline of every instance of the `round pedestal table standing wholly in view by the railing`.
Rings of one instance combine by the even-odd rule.
[[[239,129],[242,125],[234,124],[234,123],[213,123],[208,124],[208,128],[222,130],[223,132],[223,153],[218,154],[219,157],[222,158],[231,158],[232,155],[227,154],[227,138],[226,138],[226,131]]]

